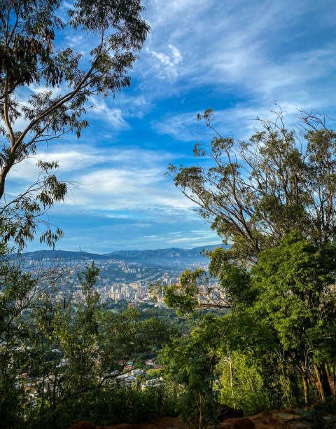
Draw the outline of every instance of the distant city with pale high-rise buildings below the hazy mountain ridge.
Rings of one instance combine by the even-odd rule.
[[[208,246],[207,250],[214,250],[216,246]],[[118,252],[116,257],[100,254],[87,254],[85,252],[63,252],[61,257],[57,252],[47,251],[30,252],[20,255],[20,263],[27,271],[41,276],[41,285],[46,286],[56,282],[57,279],[57,299],[65,299],[67,304],[78,304],[83,301],[83,294],[78,282],[77,274],[85,269],[85,266],[99,268],[99,276],[95,285],[100,295],[102,303],[116,304],[125,300],[129,303],[154,304],[153,295],[149,287],[160,282],[162,287],[179,284],[181,273],[186,269],[202,268],[207,270],[209,259],[200,254],[200,249],[193,250],[158,250],[132,252],[135,253],[132,259],[141,262],[127,260],[123,257],[123,252]],[[192,252],[194,251],[194,252]],[[143,261],[144,252],[146,263]],[[153,257],[148,257],[148,252]],[[165,253],[165,257],[158,259],[158,252]],[[126,252],[125,252],[126,253]],[[48,275],[46,275],[48,273]],[[55,280],[54,280],[55,279]],[[209,280],[209,284],[200,285],[201,295],[207,295],[209,287],[216,289],[218,282]],[[155,306],[165,306],[164,296],[160,294],[155,302]]]

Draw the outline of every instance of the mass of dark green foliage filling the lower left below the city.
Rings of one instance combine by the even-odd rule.
[[[3,259],[0,386],[6,395],[0,415],[6,427],[67,427],[78,420],[79,409],[85,418],[106,423],[118,423],[120,416],[128,421],[155,418],[160,409],[172,409],[174,393],[153,390],[148,401],[148,392],[126,389],[117,381],[127,360],[153,353],[169,330],[160,320],[141,320],[136,310],[105,310],[94,290],[98,274],[94,264],[79,273],[83,303],[75,312],[52,290],[43,290],[34,275]],[[146,407],[139,407],[144,401]]]

